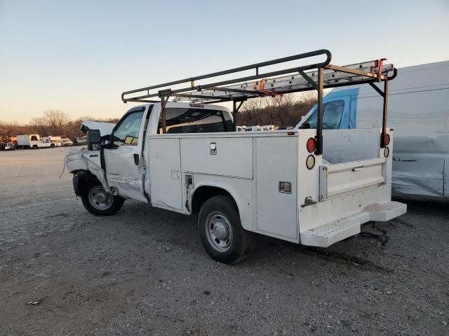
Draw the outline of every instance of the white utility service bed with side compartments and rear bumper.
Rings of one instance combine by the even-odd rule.
[[[387,211],[391,197],[391,175],[387,169],[391,171],[391,156],[384,158],[380,151],[379,130],[337,132],[335,141],[341,139],[347,144],[340,157],[330,146],[328,158],[333,156],[330,159],[338,163],[322,162],[322,156],[316,155],[313,169],[305,165],[307,157],[313,155],[305,144],[316,130],[150,135],[145,146],[149,157],[146,189],[151,190],[154,206],[188,214],[192,210],[189,200],[201,186],[223,188],[236,201],[246,230],[302,244],[328,246],[341,240],[337,238],[342,235],[360,232],[361,223],[373,218],[380,220],[370,207],[384,207],[380,212],[395,216],[405,212],[402,205],[393,213]],[[377,141],[371,141],[373,137]],[[366,144],[371,145],[364,151],[356,151],[361,139],[367,139]],[[335,141],[333,144],[338,148],[341,144]],[[347,158],[342,153],[347,153]],[[367,158],[374,153],[377,158]],[[186,176],[192,176],[192,187],[186,186]],[[289,193],[280,190],[280,182],[290,183]],[[306,202],[306,198],[313,204]],[[335,230],[335,237],[328,238],[325,225],[333,228],[336,221],[354,228]],[[316,235],[320,237],[314,239]]]

